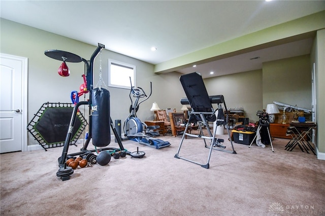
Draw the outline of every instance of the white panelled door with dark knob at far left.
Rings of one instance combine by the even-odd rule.
[[[27,58],[1,54],[0,153],[26,151]]]

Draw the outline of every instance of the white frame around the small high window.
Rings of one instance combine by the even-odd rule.
[[[114,73],[114,71],[111,70],[111,65],[112,64],[117,65],[117,66],[121,66],[121,67],[127,67],[127,68],[133,69],[133,79],[131,78],[131,80],[132,80],[132,85],[136,86],[136,65],[116,61],[116,60],[113,60],[113,59],[108,59],[108,86],[109,87],[131,89],[131,84],[129,82],[129,76],[125,77],[125,80],[127,79],[127,81],[125,81],[125,82],[127,82],[127,85],[112,84],[111,77],[112,77],[112,73]]]

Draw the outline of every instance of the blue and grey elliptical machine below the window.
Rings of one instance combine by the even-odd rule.
[[[154,138],[155,136],[159,136],[158,132],[154,132],[154,129],[158,129],[159,126],[147,126],[144,122],[141,122],[140,119],[137,117],[137,111],[139,110],[140,103],[144,102],[145,100],[149,99],[152,93],[152,83],[150,82],[150,94],[149,96],[146,95],[144,90],[141,87],[134,87],[132,85],[131,77],[131,91],[129,93],[129,98],[131,100],[131,105],[129,108],[129,115],[124,121],[123,131],[124,136],[123,140],[130,139],[136,142],[139,142],[142,145],[152,147],[155,149],[161,149],[170,146],[170,142],[163,141],[161,139]],[[133,103],[132,95],[135,97],[135,101]],[[140,98],[144,98],[140,100]],[[143,130],[146,130],[146,133],[143,133]]]

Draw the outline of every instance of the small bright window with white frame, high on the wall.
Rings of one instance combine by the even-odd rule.
[[[108,86],[131,89],[131,82],[136,86],[136,66],[108,59]]]

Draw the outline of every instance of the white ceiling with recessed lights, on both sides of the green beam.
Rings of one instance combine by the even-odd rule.
[[[325,1],[0,1],[4,19],[157,64],[325,10]],[[204,78],[309,54],[306,39],[178,70]],[[154,46],[156,51],[150,48]],[[253,57],[259,57],[249,60]],[[247,60],[248,59],[248,60]],[[236,63],[234,63],[236,62]]]

